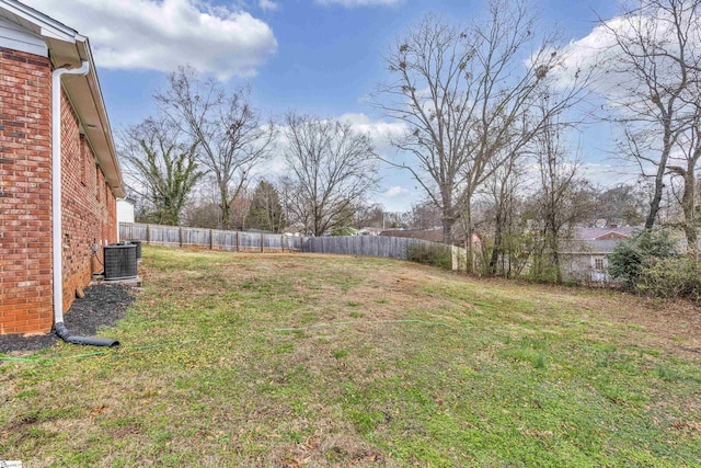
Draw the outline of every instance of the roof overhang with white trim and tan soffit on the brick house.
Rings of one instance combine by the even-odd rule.
[[[64,91],[78,114],[107,184],[116,197],[123,197],[124,180],[88,37],[16,0],[0,0],[0,21],[15,24],[25,34],[41,37],[55,68],[79,68],[83,61],[90,62],[87,76],[64,79]],[[41,49],[33,46],[25,52],[36,55]]]

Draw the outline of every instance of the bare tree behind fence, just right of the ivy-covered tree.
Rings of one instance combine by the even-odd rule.
[[[170,88],[156,94],[174,125],[199,141],[199,160],[217,183],[219,227],[232,227],[232,209],[251,170],[269,155],[272,123],[261,122],[251,90],[227,93],[215,79],[202,79],[192,68],[169,75]]]

